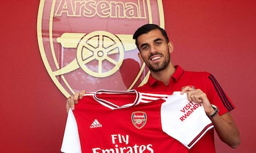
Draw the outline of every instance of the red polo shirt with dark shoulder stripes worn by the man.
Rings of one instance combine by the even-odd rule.
[[[137,91],[144,93],[172,94],[173,91],[181,91],[181,88],[184,86],[194,86],[195,89],[202,89],[202,91],[207,94],[211,104],[216,105],[218,109],[220,109],[220,115],[235,108],[213,75],[208,72],[185,71],[179,65],[176,66],[176,71],[170,78],[169,85],[164,85],[163,82],[156,80],[150,75],[148,82],[138,87]],[[215,143],[213,130],[208,131],[189,152],[214,153]]]

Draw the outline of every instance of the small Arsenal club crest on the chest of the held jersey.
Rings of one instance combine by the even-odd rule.
[[[136,128],[143,128],[147,122],[147,114],[145,112],[133,112],[132,123]]]

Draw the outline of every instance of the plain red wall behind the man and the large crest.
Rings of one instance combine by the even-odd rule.
[[[1,1],[0,152],[60,152],[66,97],[41,60],[36,37],[40,1]],[[242,143],[218,152],[254,152],[256,146],[256,1],[163,0],[174,64],[215,75],[236,104]]]

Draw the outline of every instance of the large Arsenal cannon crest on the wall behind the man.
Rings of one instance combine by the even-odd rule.
[[[82,89],[133,89],[149,75],[132,39],[146,23],[164,28],[162,1],[41,0],[41,58],[66,97]]]

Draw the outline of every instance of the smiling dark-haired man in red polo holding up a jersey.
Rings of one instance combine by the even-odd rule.
[[[226,96],[216,79],[207,72],[187,72],[179,65],[174,66],[170,54],[173,43],[169,41],[166,31],[158,25],[147,24],[134,33],[138,56],[150,69],[148,82],[137,88],[145,93],[172,94],[173,91],[187,93],[189,101],[203,105],[205,113],[213,122],[220,139],[230,147],[236,148],[240,143],[239,130],[229,114],[234,105]],[[82,98],[85,91],[75,93],[67,99],[67,110]],[[215,152],[213,130],[208,131],[189,152]]]

